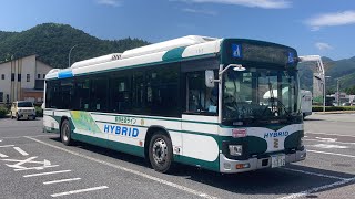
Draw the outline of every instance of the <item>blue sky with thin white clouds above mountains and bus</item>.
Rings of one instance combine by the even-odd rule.
[[[298,55],[355,56],[353,0],[0,0],[0,31],[70,24],[108,40],[155,43],[184,35],[243,38]]]

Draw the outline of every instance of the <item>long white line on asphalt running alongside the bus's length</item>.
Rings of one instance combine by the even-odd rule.
[[[146,174],[144,174],[144,172],[140,172],[140,171],[132,170],[132,169],[129,169],[129,168],[125,168],[125,167],[122,167],[122,166],[118,166],[118,165],[115,165],[115,164],[111,164],[111,163],[103,161],[103,160],[100,160],[100,159],[97,159],[97,158],[93,158],[93,157],[90,157],[90,156],[85,156],[85,155],[80,154],[80,153],[71,151],[71,150],[68,150],[68,149],[65,149],[65,148],[62,148],[62,147],[59,147],[59,146],[55,146],[55,145],[51,145],[51,144],[48,144],[48,143],[44,143],[44,142],[41,142],[41,140],[36,139],[36,138],[33,138],[33,137],[27,137],[27,138],[29,138],[29,139],[31,139],[31,140],[34,140],[34,142],[37,142],[37,143],[40,143],[40,144],[50,146],[50,147],[52,147],[52,148],[57,148],[57,149],[59,149],[59,150],[69,153],[69,154],[71,154],[71,155],[79,156],[79,157],[89,159],[89,160],[91,160],[91,161],[95,161],[95,163],[99,163],[99,164],[102,164],[102,165],[105,165],[105,166],[109,166],[109,167],[112,167],[112,168],[115,168],[115,169],[119,169],[119,170],[123,170],[123,171],[125,171],[125,172],[131,172],[131,174],[134,174],[134,175],[136,175],[136,176],[143,177],[143,178],[146,178],[146,179],[151,179],[151,180],[153,180],[153,181],[156,181],[156,182],[160,182],[160,184],[163,184],[163,185],[166,185],[166,186],[176,188],[176,189],[179,189],[179,190],[182,190],[182,191],[185,191],[185,192],[189,192],[189,193],[192,193],[192,195],[202,197],[202,198],[209,198],[209,199],[215,199],[215,198],[216,198],[216,197],[210,196],[210,195],[207,195],[207,193],[204,193],[204,192],[201,192],[201,191],[191,189],[191,188],[189,188],[189,187],[184,187],[184,186],[181,186],[181,185],[178,185],[178,184],[168,181],[168,180],[163,180],[163,179],[158,178],[158,177],[153,177],[153,176],[146,175]]]

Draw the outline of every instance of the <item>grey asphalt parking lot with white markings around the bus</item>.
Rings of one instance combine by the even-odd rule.
[[[164,175],[142,158],[64,146],[40,119],[0,119],[0,198],[353,198],[354,129],[355,115],[312,115],[302,163],[237,175],[178,166]]]

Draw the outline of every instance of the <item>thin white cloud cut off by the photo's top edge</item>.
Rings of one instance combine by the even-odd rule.
[[[170,1],[183,1],[190,3],[220,3],[220,4],[235,4],[251,8],[263,9],[284,9],[290,8],[291,2],[288,0],[170,0]]]

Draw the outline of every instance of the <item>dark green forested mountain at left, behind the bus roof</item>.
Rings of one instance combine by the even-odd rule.
[[[68,24],[43,23],[22,32],[0,31],[0,62],[37,54],[38,59],[53,67],[68,67],[68,54],[72,46],[71,63],[110,53],[148,45],[139,39],[100,40]]]

